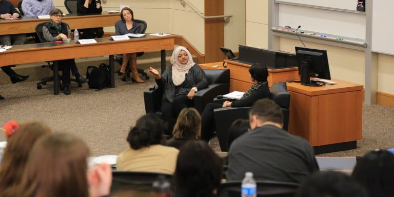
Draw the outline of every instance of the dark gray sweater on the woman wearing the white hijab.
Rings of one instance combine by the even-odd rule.
[[[208,80],[205,72],[197,64],[194,64],[185,77],[185,81],[177,87],[178,93],[175,94],[175,85],[172,83],[172,66],[168,67],[162,74],[160,80],[156,80],[159,87],[164,87],[163,101],[172,103],[174,97],[180,94],[187,95],[192,87],[197,87],[198,90],[208,86]]]

